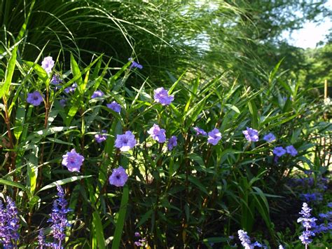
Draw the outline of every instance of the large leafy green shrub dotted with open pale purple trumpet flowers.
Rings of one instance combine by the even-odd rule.
[[[102,57],[80,67],[71,55],[70,63],[64,71],[50,56],[39,65],[22,62],[18,80],[25,87],[1,90],[0,184],[27,220],[19,239],[18,212],[7,201],[4,245],[197,247],[229,243],[237,227],[251,233],[259,223],[279,246],[269,203],[281,198],[280,182],[296,168],[313,167],[314,139],[303,126],[311,128],[317,114],[300,105],[303,95],[291,93],[291,110],[272,90],[249,92],[219,79],[130,87],[128,76],[142,69],[132,59],[115,74],[102,68]],[[50,207],[54,187],[58,198]],[[38,218],[45,210],[52,211],[50,231]],[[328,229],[320,222],[319,231]],[[244,230],[244,247],[265,246],[251,243]]]

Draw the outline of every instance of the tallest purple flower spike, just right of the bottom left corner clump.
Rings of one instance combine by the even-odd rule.
[[[64,198],[64,191],[60,185],[57,184],[57,196],[59,198],[53,201],[52,213],[50,214],[50,219],[48,222],[51,222],[50,227],[53,238],[58,242],[58,247],[61,248],[61,243],[66,238],[66,229],[70,227],[70,224],[67,220],[67,213],[71,210],[67,208],[67,201]]]

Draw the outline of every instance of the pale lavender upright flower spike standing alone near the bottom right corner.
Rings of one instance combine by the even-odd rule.
[[[311,236],[314,236],[314,232],[311,231],[312,227],[316,227],[316,218],[311,217],[311,208],[307,206],[307,203],[303,203],[302,210],[300,211],[300,215],[302,217],[298,218],[297,222],[300,222],[302,226],[305,228],[305,231],[300,235],[300,241],[306,246],[312,242]]]

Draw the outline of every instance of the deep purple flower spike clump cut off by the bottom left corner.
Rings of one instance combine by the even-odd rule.
[[[16,248],[18,243],[18,229],[20,229],[20,220],[18,218],[18,209],[11,197],[6,197],[6,208],[0,200],[0,243],[4,248]]]

